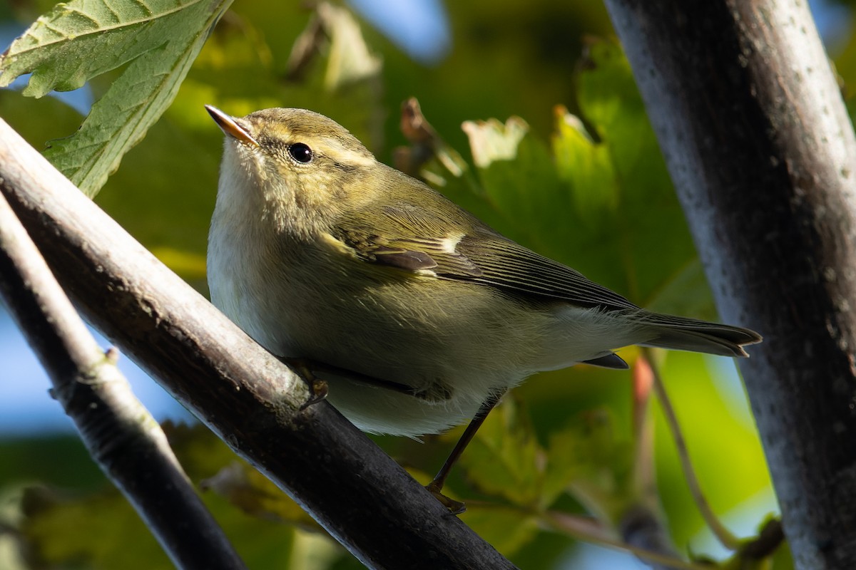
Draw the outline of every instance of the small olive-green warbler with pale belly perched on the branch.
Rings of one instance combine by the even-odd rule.
[[[329,401],[366,432],[473,419],[436,494],[490,408],[532,373],[626,368],[613,351],[630,344],[746,356],[761,340],[639,309],[377,162],[324,115],[206,109],[226,134],[211,302],[273,354],[339,371]]]

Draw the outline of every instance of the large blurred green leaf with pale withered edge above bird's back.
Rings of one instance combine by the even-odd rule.
[[[467,207],[636,303],[708,316],[707,285],[692,272],[693,241],[627,60],[605,41],[589,57],[580,107],[593,135],[562,107],[551,148],[516,118],[465,123],[480,188],[480,203],[471,197]]]

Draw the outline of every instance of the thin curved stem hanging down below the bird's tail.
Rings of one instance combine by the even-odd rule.
[[[731,531],[722,524],[713,508],[710,508],[710,503],[704,497],[704,492],[701,490],[701,485],[698,483],[693,461],[690,461],[689,450],[687,449],[687,441],[684,439],[681,432],[681,425],[678,423],[678,417],[675,414],[675,408],[669,400],[669,394],[666,393],[666,387],[663,385],[663,377],[660,375],[657,362],[654,361],[653,353],[650,348],[642,347],[642,356],[651,365],[651,372],[654,373],[654,393],[657,394],[657,399],[660,401],[660,406],[663,408],[663,415],[666,418],[666,424],[669,426],[669,431],[672,432],[672,438],[675,440],[675,448],[678,451],[678,458],[681,461],[681,468],[684,472],[684,477],[687,479],[687,485],[690,488],[690,494],[698,507],[699,512],[704,518],[704,521],[710,526],[710,530],[714,536],[727,549],[736,550],[740,548],[740,539],[735,537]]]

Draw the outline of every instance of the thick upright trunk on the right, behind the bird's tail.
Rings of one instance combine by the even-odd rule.
[[[607,0],[740,362],[799,568],[856,565],[856,138],[797,0]]]

